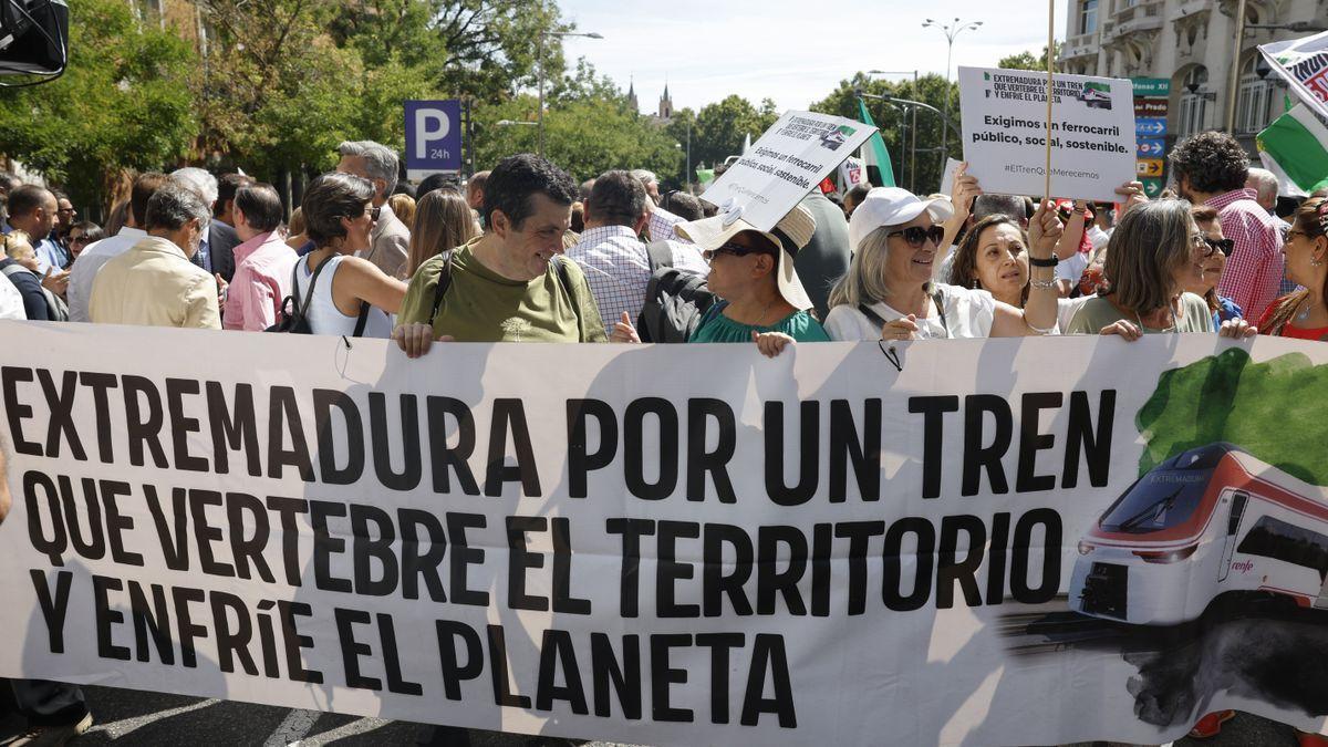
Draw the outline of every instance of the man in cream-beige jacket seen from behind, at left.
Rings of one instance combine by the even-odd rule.
[[[220,330],[216,283],[190,262],[211,218],[211,205],[193,185],[173,178],[158,187],[147,201],[147,237],[97,272],[92,320]]]

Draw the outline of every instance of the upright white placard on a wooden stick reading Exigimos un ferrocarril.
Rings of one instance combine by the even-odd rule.
[[[1046,73],[959,68],[964,161],[983,191],[1038,197],[1046,173]],[[1052,194],[1118,199],[1134,181],[1134,100],[1127,80],[1057,74]]]

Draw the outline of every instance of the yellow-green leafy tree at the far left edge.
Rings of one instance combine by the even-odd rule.
[[[0,144],[88,205],[100,203],[122,170],[161,169],[189,152],[198,61],[186,41],[139,23],[122,0],[80,0],[77,11],[68,70],[5,93]]]

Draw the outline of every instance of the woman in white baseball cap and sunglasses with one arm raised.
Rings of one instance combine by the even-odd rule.
[[[919,338],[1017,338],[1056,331],[1056,257],[1061,223],[1049,205],[1029,221],[1032,280],[1023,308],[983,290],[932,282],[932,263],[947,199],[919,199],[899,187],[876,187],[853,211],[849,272],[830,292],[826,331],[835,340]]]

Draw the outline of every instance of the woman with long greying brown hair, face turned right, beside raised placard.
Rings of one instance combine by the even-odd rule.
[[[1106,249],[1102,274],[1110,288],[1084,303],[1065,334],[1137,340],[1155,332],[1212,332],[1207,303],[1185,292],[1201,271],[1206,246],[1189,202],[1161,199],[1131,207]],[[1256,331],[1244,319],[1231,319],[1220,334],[1248,338]]]

